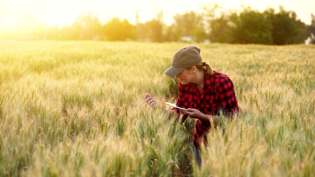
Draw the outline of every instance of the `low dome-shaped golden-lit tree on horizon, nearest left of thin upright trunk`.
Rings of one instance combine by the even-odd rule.
[[[103,34],[110,41],[126,41],[127,39],[135,39],[135,29],[136,27],[126,19],[121,21],[115,17],[103,26]]]

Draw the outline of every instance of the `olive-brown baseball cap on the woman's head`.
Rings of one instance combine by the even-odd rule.
[[[172,66],[164,74],[167,76],[176,76],[185,68],[194,66],[202,61],[200,49],[195,46],[184,47],[177,51],[173,57]]]

